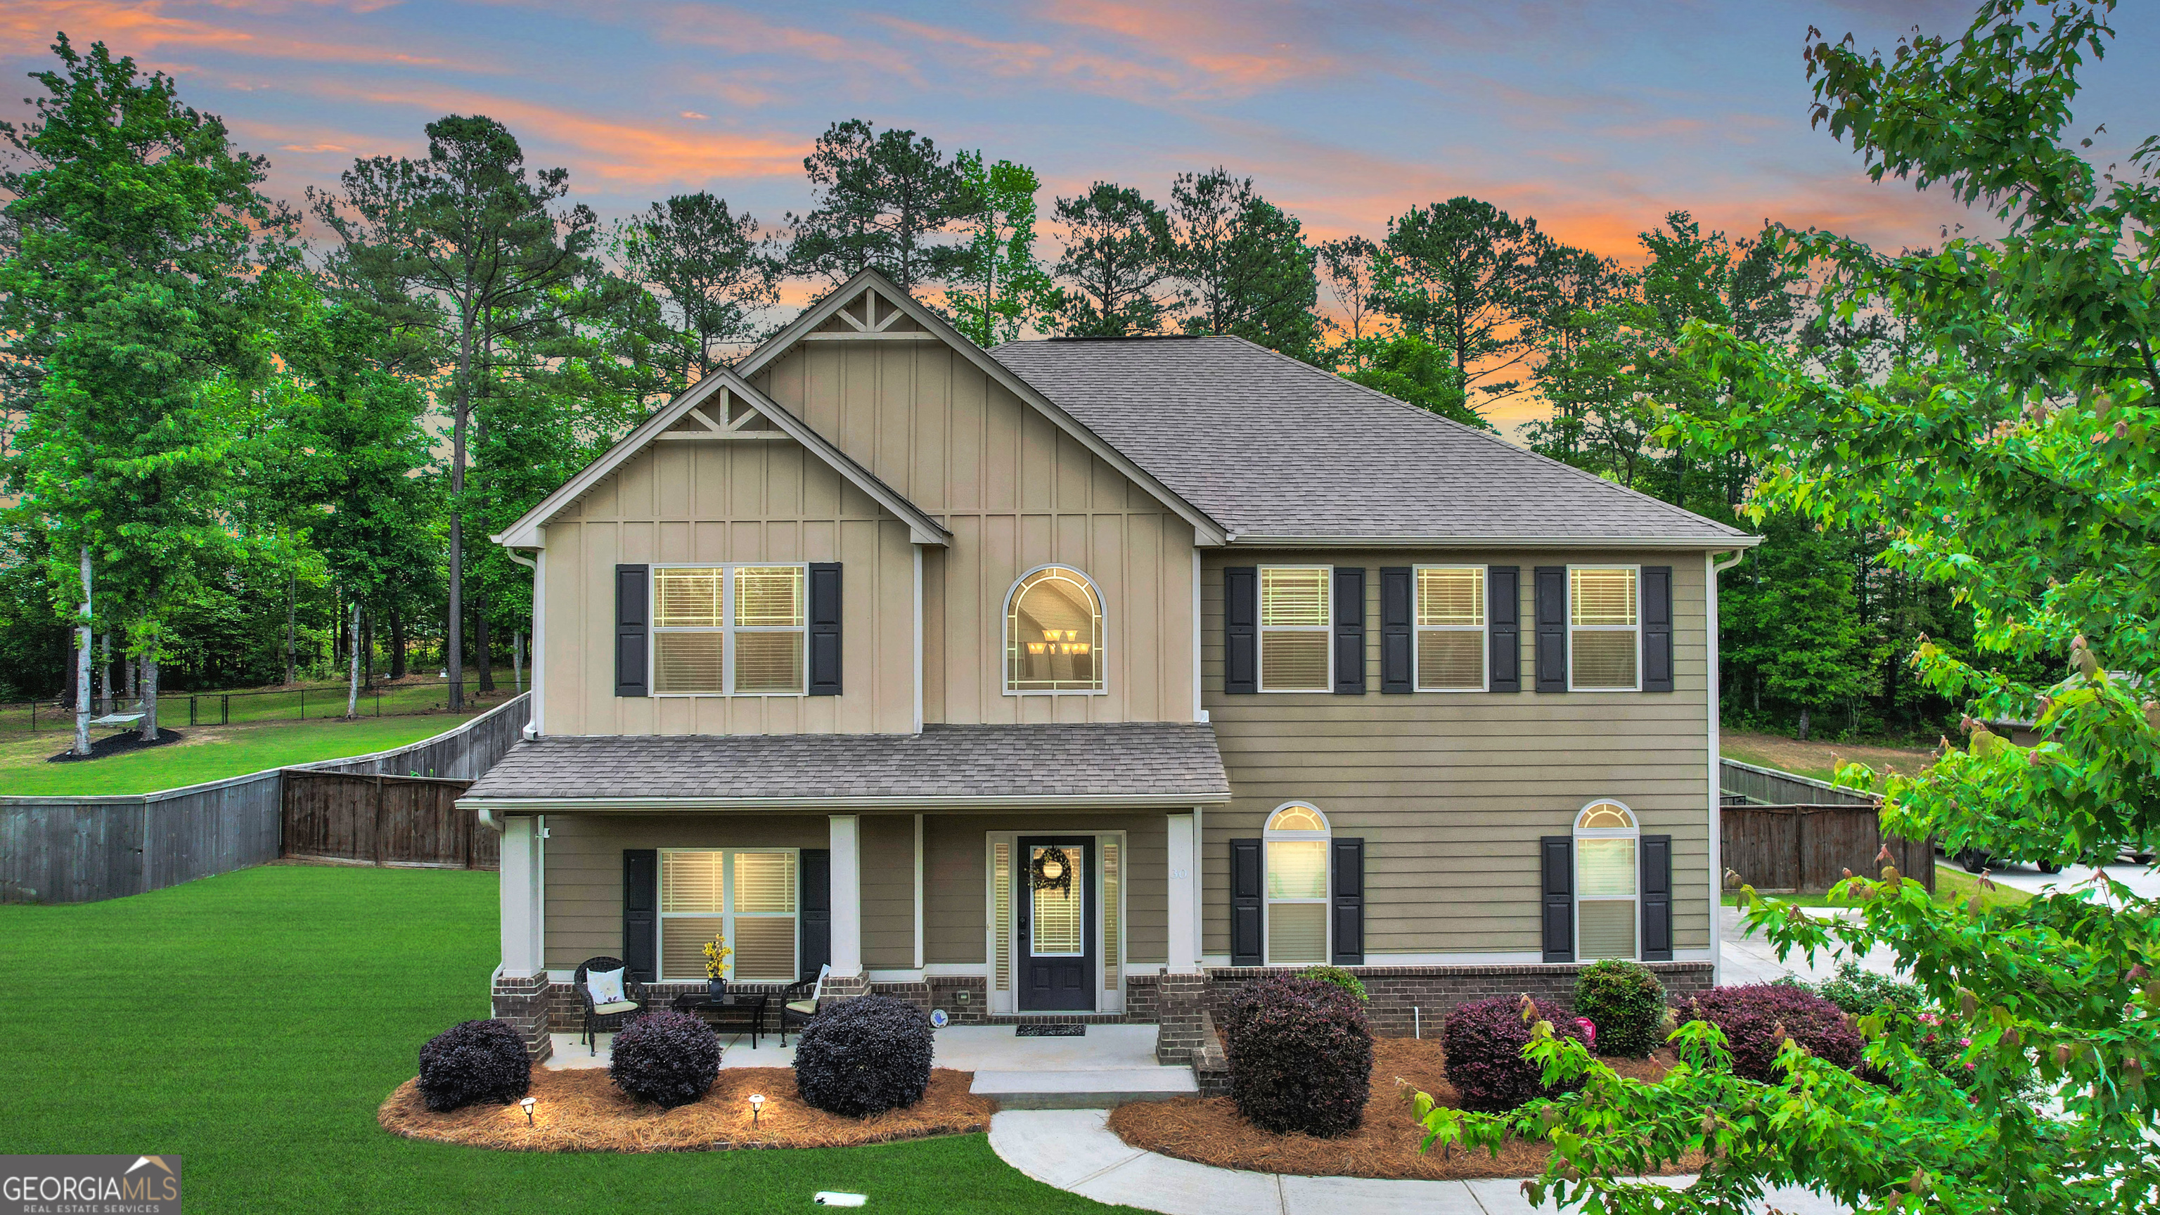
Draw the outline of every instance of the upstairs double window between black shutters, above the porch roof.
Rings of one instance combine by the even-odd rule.
[[[806,569],[652,566],[652,692],[801,696]]]

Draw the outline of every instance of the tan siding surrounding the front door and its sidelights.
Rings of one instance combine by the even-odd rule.
[[[989,934],[989,832],[1089,835],[1125,832],[1123,966],[1160,966],[1169,958],[1169,817],[1162,813],[974,813],[922,819],[922,951],[931,966],[983,964]]]

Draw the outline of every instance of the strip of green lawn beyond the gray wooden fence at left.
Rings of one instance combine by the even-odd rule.
[[[361,718],[356,722],[289,722],[259,726],[197,726],[177,744],[151,750],[45,763],[67,748],[65,733],[17,735],[0,742],[0,793],[149,793],[203,780],[244,776],[264,767],[343,759],[415,744],[454,729],[471,713],[419,713],[410,718]],[[104,737],[110,731],[95,731]]]

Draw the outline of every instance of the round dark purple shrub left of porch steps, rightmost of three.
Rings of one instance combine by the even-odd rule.
[[[795,1046],[804,1100],[847,1118],[922,1100],[931,1087],[931,1018],[894,997],[827,1003]]]

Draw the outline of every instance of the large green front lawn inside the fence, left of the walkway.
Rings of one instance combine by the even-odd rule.
[[[495,876],[272,865],[132,899],[0,906],[4,1152],[179,1152],[222,1211],[1110,1211],[983,1135],[838,1150],[486,1152],[376,1105],[421,1042],[486,1016]],[[58,1001],[58,1003],[56,1003]]]

